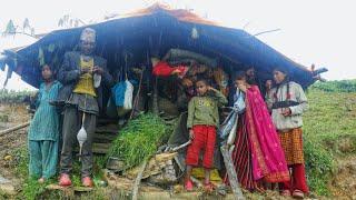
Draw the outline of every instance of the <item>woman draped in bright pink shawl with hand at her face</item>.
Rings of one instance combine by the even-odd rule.
[[[245,72],[236,76],[235,84],[246,103],[233,152],[240,184],[248,190],[261,190],[263,182],[288,181],[285,154],[258,87],[247,83]]]

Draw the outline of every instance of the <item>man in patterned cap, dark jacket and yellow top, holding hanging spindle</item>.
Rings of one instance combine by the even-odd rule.
[[[66,52],[63,64],[58,72],[58,80],[63,84],[59,101],[65,102],[60,158],[60,186],[70,186],[72,151],[77,133],[83,126],[87,139],[81,150],[81,181],[85,187],[92,187],[92,136],[95,133],[99,108],[102,108],[102,87],[113,84],[107,70],[107,61],[93,56],[96,31],[86,28],[80,36],[80,51]],[[83,137],[86,138],[86,137]],[[79,139],[78,139],[79,140]]]

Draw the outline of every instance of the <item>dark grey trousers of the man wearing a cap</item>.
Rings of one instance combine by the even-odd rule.
[[[60,157],[60,173],[69,174],[72,169],[72,153],[75,147],[79,146],[77,133],[81,128],[82,111],[77,107],[70,106],[65,109],[63,127],[62,127],[62,150]],[[97,116],[86,113],[85,129],[88,134],[87,141],[82,146],[81,151],[81,177],[91,177],[92,174],[92,136],[96,131]]]

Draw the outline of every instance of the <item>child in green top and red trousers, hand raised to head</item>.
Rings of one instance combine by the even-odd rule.
[[[216,127],[219,126],[218,107],[227,103],[225,96],[220,91],[211,88],[205,79],[196,82],[196,90],[198,96],[194,97],[188,104],[187,127],[191,140],[186,157],[187,174],[185,188],[188,191],[192,190],[192,182],[190,180],[191,170],[192,167],[198,166],[201,150],[204,150],[204,183],[207,190],[212,190],[210,169],[212,168],[214,161]]]

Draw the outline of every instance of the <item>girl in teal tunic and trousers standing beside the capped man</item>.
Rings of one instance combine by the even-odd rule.
[[[59,117],[56,107],[49,102],[56,100],[61,84],[52,79],[48,64],[42,67],[44,80],[39,89],[37,111],[31,121],[29,140],[29,174],[39,178],[39,182],[55,176],[58,161]]]

